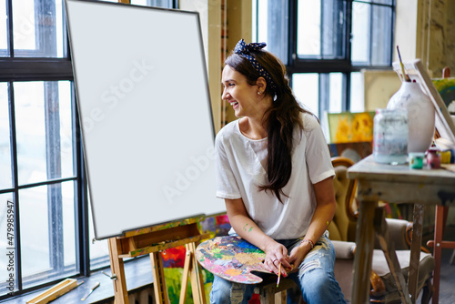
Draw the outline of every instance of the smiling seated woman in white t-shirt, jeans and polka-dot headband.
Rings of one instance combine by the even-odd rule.
[[[329,149],[299,106],[285,66],[240,40],[223,69],[223,99],[238,120],[217,134],[217,197],[238,234],[266,253],[266,269],[294,279],[308,303],[345,303],[326,236],[335,213]],[[289,274],[288,274],[288,271]],[[294,271],[292,271],[294,270]],[[254,286],[215,277],[211,303],[248,303]]]

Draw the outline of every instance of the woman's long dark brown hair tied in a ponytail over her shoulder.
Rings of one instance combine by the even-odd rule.
[[[288,197],[282,188],[288,184],[292,173],[292,150],[294,129],[303,130],[300,113],[308,112],[303,109],[292,94],[289,86],[286,66],[277,56],[262,49],[250,51],[260,66],[270,75],[275,90],[268,83],[265,93],[272,96],[272,106],[266,111],[263,122],[268,132],[268,184],[259,185],[259,190],[272,191],[280,202],[281,195]],[[254,86],[260,77],[256,68],[244,56],[232,53],[227,57],[225,64],[234,68],[248,79],[248,84]]]

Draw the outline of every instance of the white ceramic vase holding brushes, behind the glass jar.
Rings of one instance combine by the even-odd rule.
[[[408,153],[425,152],[434,135],[434,106],[417,82],[403,81],[397,93],[390,97],[387,108],[408,110]]]

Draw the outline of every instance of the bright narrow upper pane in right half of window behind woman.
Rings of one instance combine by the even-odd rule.
[[[352,4],[351,60],[355,64],[369,64],[369,8],[363,3]]]

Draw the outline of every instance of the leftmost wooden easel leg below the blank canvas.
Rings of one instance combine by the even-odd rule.
[[[116,304],[129,304],[128,291],[126,290],[125,269],[123,265],[123,258],[118,258],[118,248],[120,247],[120,240],[117,238],[108,239],[109,258],[111,261],[111,272],[114,282],[114,295]]]

